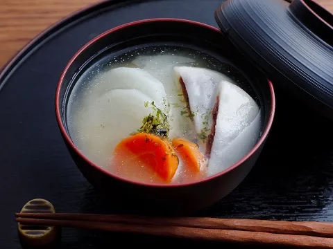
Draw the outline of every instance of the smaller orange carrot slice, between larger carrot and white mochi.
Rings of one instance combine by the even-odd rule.
[[[205,157],[201,154],[198,145],[183,138],[174,138],[172,145],[185,166],[194,172],[200,172],[200,167],[203,165]]]

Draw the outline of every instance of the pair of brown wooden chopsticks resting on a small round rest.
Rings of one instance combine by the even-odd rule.
[[[17,213],[22,225],[49,225],[209,241],[333,248],[333,224],[117,214]]]

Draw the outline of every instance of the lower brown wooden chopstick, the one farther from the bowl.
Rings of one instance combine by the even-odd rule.
[[[93,214],[95,216],[95,214]],[[92,218],[93,216],[90,216]],[[60,215],[64,218],[64,216]],[[79,217],[79,218],[78,218]],[[102,216],[99,216],[99,219]],[[76,216],[83,219],[82,215]],[[164,218],[162,218],[164,219]],[[237,243],[265,244],[275,246],[301,246],[302,248],[333,248],[333,239],[312,237],[307,235],[275,234],[269,232],[253,232],[241,230],[223,230],[193,228],[176,225],[144,225],[141,223],[116,223],[110,221],[87,221],[69,219],[35,219],[17,217],[17,222],[26,225],[55,225],[69,228],[101,230],[108,232],[132,232],[157,235],[163,237],[178,237],[185,239],[200,239],[206,241],[228,241]]]

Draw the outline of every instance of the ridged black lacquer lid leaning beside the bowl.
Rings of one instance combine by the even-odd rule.
[[[312,0],[228,0],[215,19],[288,93],[333,118],[333,15]]]

